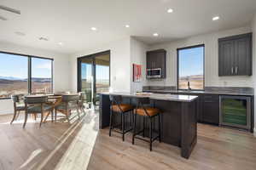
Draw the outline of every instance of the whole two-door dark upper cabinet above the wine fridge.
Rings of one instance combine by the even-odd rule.
[[[218,76],[252,76],[252,35],[218,39]]]

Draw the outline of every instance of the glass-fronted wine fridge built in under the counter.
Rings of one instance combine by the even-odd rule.
[[[251,129],[251,98],[247,96],[219,96],[219,123],[229,127]]]

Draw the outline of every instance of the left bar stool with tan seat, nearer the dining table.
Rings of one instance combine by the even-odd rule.
[[[131,128],[125,130],[125,113],[129,113],[133,111],[134,107],[128,104],[122,104],[122,96],[120,95],[109,95],[109,99],[111,101],[110,105],[110,122],[109,122],[109,136],[111,136],[111,131],[114,130],[114,127],[121,125],[121,131],[114,130],[117,133],[121,133],[123,137],[123,141],[125,141],[125,133],[128,133],[132,130]],[[119,113],[121,116],[120,124],[113,125],[113,113]],[[132,118],[131,118],[132,119]]]

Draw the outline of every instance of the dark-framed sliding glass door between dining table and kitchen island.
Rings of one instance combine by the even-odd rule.
[[[87,102],[98,104],[99,93],[108,92],[110,86],[110,51],[78,59],[78,90],[86,94]]]

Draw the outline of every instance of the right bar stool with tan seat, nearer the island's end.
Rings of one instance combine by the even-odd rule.
[[[159,139],[161,142],[161,130],[160,130],[160,110],[154,107],[146,106],[150,105],[150,100],[148,98],[137,98],[137,107],[134,110],[134,122],[133,122],[133,135],[132,135],[132,144],[134,144],[134,139],[141,139],[149,143],[149,150],[152,150],[152,143],[155,139]],[[136,132],[136,123],[137,123],[137,115],[143,116],[143,129]],[[154,117],[158,116],[158,134],[157,136],[153,136],[153,122]],[[145,119],[149,120],[149,141],[145,138]],[[143,133],[143,138],[137,137],[138,134]]]

